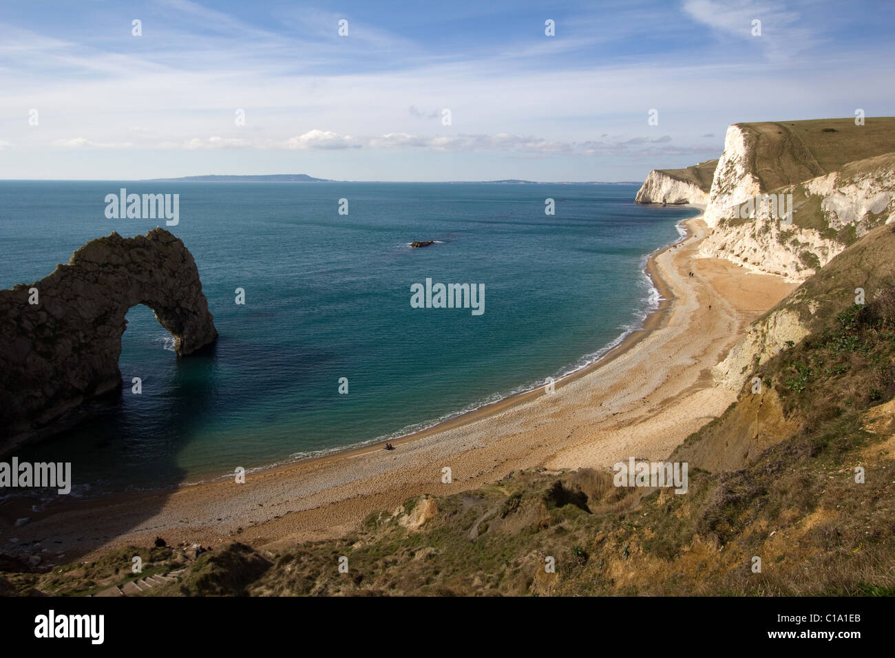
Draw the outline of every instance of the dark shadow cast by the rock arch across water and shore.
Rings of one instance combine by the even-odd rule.
[[[0,536],[15,536],[18,541],[12,546],[8,540],[3,542],[0,553],[29,551],[31,544],[63,551],[68,561],[141,526],[158,514],[183,483],[186,470],[178,465],[177,457],[212,415],[217,343],[180,358],[165,347],[171,339],[148,308],[133,307],[127,319],[136,330],[125,331],[122,337],[121,388],[81,405],[52,437],[13,452],[20,463],[70,462],[72,491],[68,495],[58,494],[55,488],[3,491]],[[139,394],[132,381],[137,376],[141,378]],[[109,519],[109,527],[85,533],[98,536],[72,540],[68,512],[87,506],[101,509],[123,495],[147,491],[156,495],[141,496],[140,504],[130,505],[132,516],[124,521]],[[13,524],[19,518],[30,518],[30,522],[16,527]]]

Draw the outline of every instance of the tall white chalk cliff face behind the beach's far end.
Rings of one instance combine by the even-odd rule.
[[[703,256],[804,281],[848,244],[895,220],[895,153],[828,172],[798,128],[789,127],[800,123],[810,122],[729,127],[703,216],[714,228],[701,245]],[[889,146],[881,142],[880,148]],[[737,217],[734,206],[769,192],[792,195],[791,225],[767,212]]]

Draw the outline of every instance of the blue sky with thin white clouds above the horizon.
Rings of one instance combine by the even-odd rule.
[[[4,0],[0,178],[642,181],[729,124],[895,115],[893,24],[888,0]]]

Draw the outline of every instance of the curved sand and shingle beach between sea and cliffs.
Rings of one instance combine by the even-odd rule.
[[[648,271],[664,301],[644,329],[591,368],[426,432],[395,450],[354,450],[250,474],[244,484],[209,483],[165,493],[71,501],[9,528],[19,551],[49,547],[45,562],[111,546],[250,543],[342,534],[376,509],[421,493],[473,489],[533,466],[609,468],[627,457],[661,460],[735,399],[713,385],[718,363],[746,325],[795,285],[728,261],[697,259],[707,228],[653,254]],[[688,272],[693,271],[695,278]],[[711,310],[710,310],[711,305]],[[453,482],[441,482],[449,467]],[[8,544],[7,544],[8,546]],[[38,548],[43,550],[43,548]]]

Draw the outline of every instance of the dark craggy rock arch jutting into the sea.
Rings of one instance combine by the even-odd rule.
[[[192,254],[162,228],[91,240],[49,276],[0,291],[0,451],[121,385],[124,316],[139,303],[177,355],[217,338]]]

